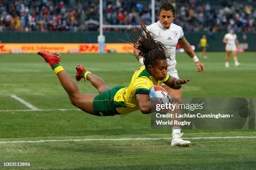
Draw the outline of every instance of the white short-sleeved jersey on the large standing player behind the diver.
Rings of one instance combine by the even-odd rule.
[[[167,59],[170,71],[175,70],[176,60],[175,60],[175,52],[176,45],[178,44],[178,40],[182,39],[184,36],[184,32],[182,28],[174,23],[170,25],[169,29],[166,29],[161,25],[160,21],[147,26],[147,30],[154,33],[151,36],[154,40],[161,42],[166,49],[169,51],[171,60]]]

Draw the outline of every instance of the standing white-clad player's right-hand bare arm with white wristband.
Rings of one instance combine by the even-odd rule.
[[[193,51],[193,49],[191,48],[189,42],[187,42],[185,37],[182,37],[182,39],[180,39],[178,41],[178,43],[183,47],[183,49],[185,50],[185,52],[187,53],[187,55],[189,55],[189,57],[191,57],[194,61],[195,64],[197,66],[197,72],[205,72],[205,65],[203,65],[198,58],[195,55],[195,52]]]

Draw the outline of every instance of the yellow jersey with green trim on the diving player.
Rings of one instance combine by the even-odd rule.
[[[134,72],[130,85],[128,87],[121,88],[118,90],[118,92],[116,92],[114,101],[120,105],[120,107],[116,107],[116,110],[121,115],[126,115],[129,112],[139,110],[136,95],[148,94],[149,89],[152,86],[162,85],[162,83],[167,82],[170,77],[171,76],[167,74],[164,80],[156,81],[151,73],[146,70],[145,66],[141,66]]]

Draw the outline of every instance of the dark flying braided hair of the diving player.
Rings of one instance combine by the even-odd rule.
[[[166,47],[161,42],[155,41],[153,37],[150,35],[154,35],[154,33],[148,31],[146,29],[145,24],[142,21],[140,21],[140,25],[143,33],[139,38],[135,37],[134,35],[131,35],[130,40],[131,42],[133,42],[133,47],[140,50],[136,57],[144,57],[143,62],[144,65],[146,66],[146,69],[148,68],[148,65],[156,64],[157,60],[166,60],[167,58],[171,59],[169,57],[169,52],[166,49]],[[140,32],[140,30],[138,29],[137,31]]]

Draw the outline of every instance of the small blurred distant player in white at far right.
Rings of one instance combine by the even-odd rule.
[[[224,38],[223,42],[226,44],[225,50],[226,50],[226,60],[225,60],[225,67],[229,67],[229,55],[232,53],[233,60],[235,62],[235,66],[239,66],[240,63],[238,62],[237,55],[236,55],[236,45],[240,47],[240,44],[238,42],[237,36],[234,33],[233,29],[229,30],[229,33],[227,33]]]

